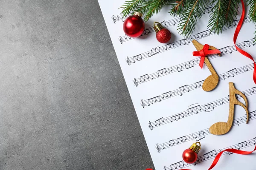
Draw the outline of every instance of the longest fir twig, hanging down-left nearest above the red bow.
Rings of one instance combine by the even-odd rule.
[[[186,2],[183,14],[181,14],[181,22],[177,27],[181,31],[181,35],[189,37],[192,34],[197,18],[201,18],[208,2],[208,0],[188,0]]]

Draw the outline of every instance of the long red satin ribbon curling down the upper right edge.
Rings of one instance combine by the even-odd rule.
[[[238,34],[239,34],[239,32],[240,32],[240,29],[241,29],[241,27],[242,27],[242,24],[243,24],[243,21],[244,21],[244,14],[245,14],[245,10],[244,10],[244,1],[241,0],[241,3],[242,3],[243,11],[242,11],[242,16],[241,16],[241,18],[240,18],[240,20],[239,20],[239,23],[238,23],[238,25],[237,25],[237,27],[236,27],[235,34],[234,34],[234,39],[233,39],[233,40],[234,40],[235,46],[236,46],[236,39],[237,39]],[[241,54],[243,54],[244,56],[248,57],[249,59],[253,60],[253,63],[254,63],[253,81],[254,81],[254,83],[256,84],[256,64],[255,64],[255,61],[254,61],[253,57],[252,57],[249,53],[247,53],[247,52],[241,50],[240,48],[238,48],[237,46],[236,46],[236,49],[237,49],[237,51],[239,51],[239,53],[241,53]]]

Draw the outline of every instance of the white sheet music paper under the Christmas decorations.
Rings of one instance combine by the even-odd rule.
[[[125,17],[120,14],[122,9],[119,7],[125,0],[98,1],[156,170],[206,170],[221,150],[253,150],[256,143],[256,85],[253,62],[236,51],[233,44],[239,20],[225,26],[223,34],[218,36],[207,28],[209,6],[193,34],[184,38],[177,31],[180,18],[170,16],[168,7],[164,7],[145,23],[142,36],[134,39],[126,36],[122,29]],[[172,32],[170,43],[161,44],[156,40],[154,21]],[[256,59],[255,24],[249,21],[246,17],[237,44]],[[221,57],[216,54],[208,57],[220,80],[211,92],[202,89],[210,72],[206,65],[200,68],[199,57],[192,56],[196,51],[192,40],[221,51]],[[228,119],[228,82],[234,82],[236,89],[247,97],[249,122],[245,124],[246,112],[236,105],[230,132],[215,136],[209,133],[209,127]],[[240,96],[237,97],[244,103]],[[186,164],[182,160],[183,150],[197,141],[202,145],[198,160]],[[256,154],[224,153],[215,169],[255,170],[255,159]]]

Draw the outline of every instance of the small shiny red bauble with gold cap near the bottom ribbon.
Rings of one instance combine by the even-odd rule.
[[[199,146],[197,144],[199,144]],[[195,163],[195,161],[198,158],[197,154],[200,149],[201,149],[200,142],[196,142],[192,144],[192,146],[189,147],[189,149],[184,150],[184,152],[182,153],[183,161],[185,161],[188,164]]]

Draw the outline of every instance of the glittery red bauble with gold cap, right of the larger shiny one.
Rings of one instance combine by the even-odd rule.
[[[154,30],[157,33],[157,40],[159,42],[167,43],[171,40],[172,33],[168,29],[164,28],[161,23],[154,22]]]

